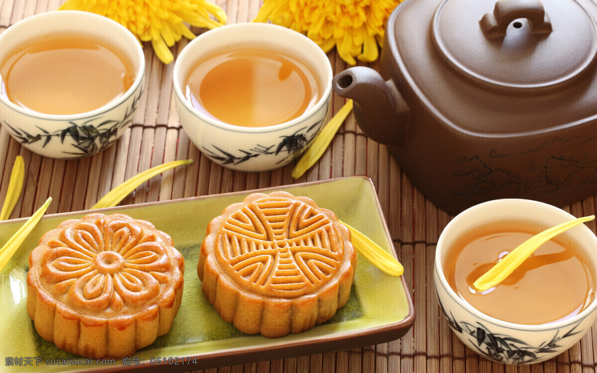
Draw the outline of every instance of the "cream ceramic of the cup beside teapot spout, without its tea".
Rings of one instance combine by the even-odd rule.
[[[304,61],[323,87],[315,106],[291,121],[269,127],[226,124],[196,110],[186,99],[186,82],[204,55],[259,45]],[[267,171],[289,164],[306,149],[325,122],[331,97],[332,68],[315,42],[296,31],[267,23],[238,23],[202,33],[174,64],[174,92],[180,123],[201,152],[236,171]],[[230,103],[235,110],[235,103]]]

